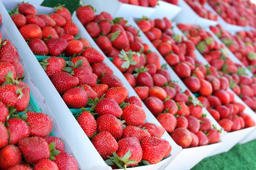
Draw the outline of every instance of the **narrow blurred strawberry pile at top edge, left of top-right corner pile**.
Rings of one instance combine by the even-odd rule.
[[[204,4],[206,3],[206,0],[185,0],[187,4],[195,11],[197,15],[200,17],[218,21],[218,16],[215,15],[212,11],[206,9],[204,7]]]

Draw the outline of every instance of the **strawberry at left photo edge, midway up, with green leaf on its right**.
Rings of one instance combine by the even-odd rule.
[[[0,101],[6,106],[14,106],[18,99],[22,97],[21,90],[15,85],[2,85],[0,86]]]

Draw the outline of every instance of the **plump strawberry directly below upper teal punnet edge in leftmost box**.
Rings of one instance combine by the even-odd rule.
[[[50,135],[53,129],[53,121],[48,115],[31,111],[26,114],[30,136],[45,137]]]

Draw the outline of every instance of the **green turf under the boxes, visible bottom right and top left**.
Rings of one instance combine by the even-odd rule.
[[[73,14],[79,7],[79,0],[45,0],[42,6],[55,7],[58,4],[65,4]],[[237,144],[227,153],[205,158],[192,170],[256,170],[256,140]]]

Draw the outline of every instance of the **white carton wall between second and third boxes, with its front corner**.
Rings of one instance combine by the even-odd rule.
[[[96,44],[96,42],[94,42],[94,40],[91,38],[90,34],[88,34],[88,32],[86,31],[86,29],[84,28],[84,26],[82,26],[81,22],[79,21],[79,19],[76,17],[76,12],[73,13],[72,16],[73,22],[79,27],[79,33],[80,35],[82,35],[83,38],[86,38],[90,44],[91,47],[97,49],[98,51],[100,51],[102,54],[104,54],[101,49],[98,47],[98,45]],[[131,85],[128,83],[127,79],[125,78],[125,76],[123,76],[123,74],[119,71],[119,69],[110,61],[110,59],[108,59],[105,56],[104,62],[107,63],[110,68],[113,70],[114,75],[118,76],[122,82],[124,83],[124,87],[126,87],[129,91],[129,96],[138,96],[137,93],[134,91],[134,89],[131,87]],[[155,123],[157,125],[161,124],[155,119],[154,115],[147,109],[146,105],[143,103],[142,104],[142,108],[145,110],[146,112],[146,121],[147,122],[151,122],[151,123]],[[155,170],[157,168],[161,168],[163,169],[169,162],[171,162],[172,160],[174,160],[174,158],[177,156],[178,153],[180,153],[182,151],[182,148],[180,146],[178,146],[174,140],[171,138],[170,135],[168,135],[168,133],[165,131],[165,134],[161,137],[163,139],[166,139],[167,141],[169,141],[169,143],[172,145],[172,152],[171,155],[169,155],[169,157],[163,161],[160,161],[157,164],[154,165],[146,165],[146,166],[141,166],[141,167],[136,167],[136,168],[128,168],[128,170]]]

